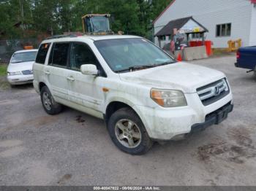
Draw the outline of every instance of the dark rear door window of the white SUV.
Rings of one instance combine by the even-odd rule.
[[[52,55],[52,62],[51,62],[52,65],[59,66],[62,68],[67,67],[68,52],[69,52],[69,43],[53,44],[53,55]]]

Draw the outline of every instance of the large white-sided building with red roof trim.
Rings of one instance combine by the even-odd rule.
[[[173,0],[154,20],[154,34],[171,20],[191,16],[208,29],[206,40],[213,47],[224,48],[237,39],[243,46],[256,45],[256,0]],[[162,46],[168,42],[170,36],[162,36]]]

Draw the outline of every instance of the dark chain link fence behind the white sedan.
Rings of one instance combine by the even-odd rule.
[[[9,39],[0,40],[0,63],[9,63],[15,51],[23,50],[24,46],[39,47],[39,40],[34,39]]]

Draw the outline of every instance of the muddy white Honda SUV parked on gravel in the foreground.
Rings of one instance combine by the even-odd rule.
[[[176,62],[138,36],[56,36],[40,45],[33,71],[45,112],[65,105],[104,119],[113,143],[132,155],[233,110],[225,74]]]

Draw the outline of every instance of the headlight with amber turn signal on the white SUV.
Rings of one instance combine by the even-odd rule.
[[[187,101],[180,90],[151,89],[151,98],[163,107],[187,106]]]

